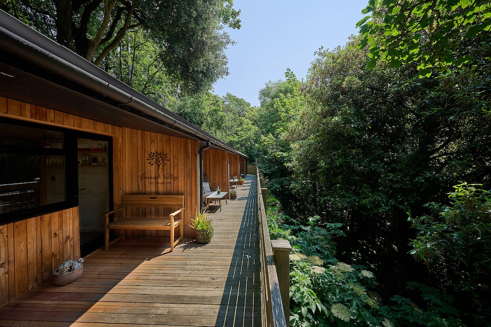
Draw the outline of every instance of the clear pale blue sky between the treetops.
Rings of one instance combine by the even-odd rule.
[[[356,23],[368,0],[234,0],[242,27],[225,29],[237,44],[229,46],[230,75],[218,80],[213,93],[227,93],[259,105],[265,83],[285,79],[290,68],[298,79],[307,74],[314,52],[333,50],[357,34]]]

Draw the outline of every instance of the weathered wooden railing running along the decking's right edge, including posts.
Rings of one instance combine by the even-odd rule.
[[[272,245],[266,218],[266,188],[263,187],[262,177],[257,168],[256,178],[261,234],[259,246],[261,251],[262,326],[285,327],[290,325],[288,254],[291,247],[288,241],[280,241],[273,249],[274,243]]]

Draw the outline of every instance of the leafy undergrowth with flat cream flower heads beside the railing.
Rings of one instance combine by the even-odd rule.
[[[276,199],[268,200],[268,226],[273,236],[288,239],[290,254],[290,325],[306,326],[464,326],[453,298],[435,288],[408,283],[422,300],[393,296],[382,301],[375,291],[375,275],[361,265],[349,265],[335,257],[334,237],[345,236],[340,224],[321,227],[319,218],[307,226],[281,213]],[[317,243],[317,244],[316,244]]]

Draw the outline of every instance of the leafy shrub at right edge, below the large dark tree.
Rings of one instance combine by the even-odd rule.
[[[445,283],[471,299],[484,321],[491,288],[491,193],[481,184],[461,183],[450,193],[450,205],[425,204],[431,214],[410,217],[418,233],[410,245]]]

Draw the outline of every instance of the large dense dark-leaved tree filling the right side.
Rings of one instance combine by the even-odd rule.
[[[426,214],[461,179],[490,183],[490,48],[472,50],[480,70],[419,79],[411,66],[367,71],[357,42],[318,52],[287,128],[287,165],[302,209],[348,226],[342,259],[372,262],[384,295],[401,294],[413,276],[439,276],[407,254],[406,213]]]

